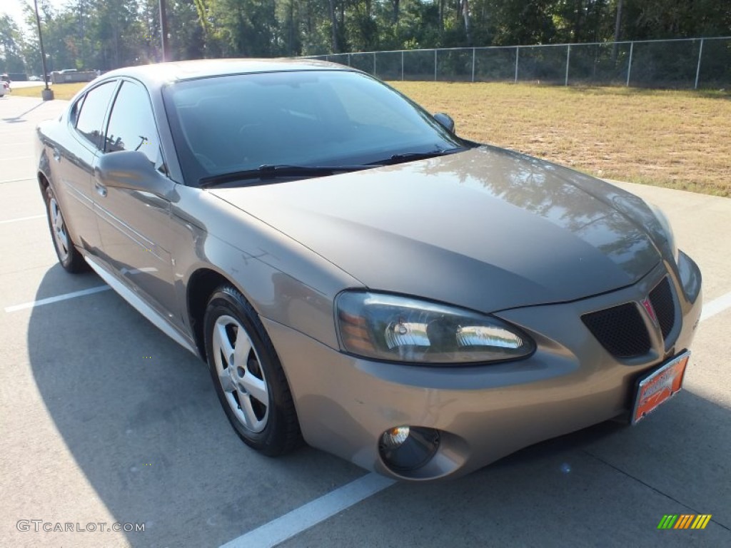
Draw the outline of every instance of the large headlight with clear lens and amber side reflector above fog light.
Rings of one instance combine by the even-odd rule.
[[[531,354],[533,341],[491,316],[398,295],[346,291],[338,335],[350,354],[396,362],[465,364]]]

